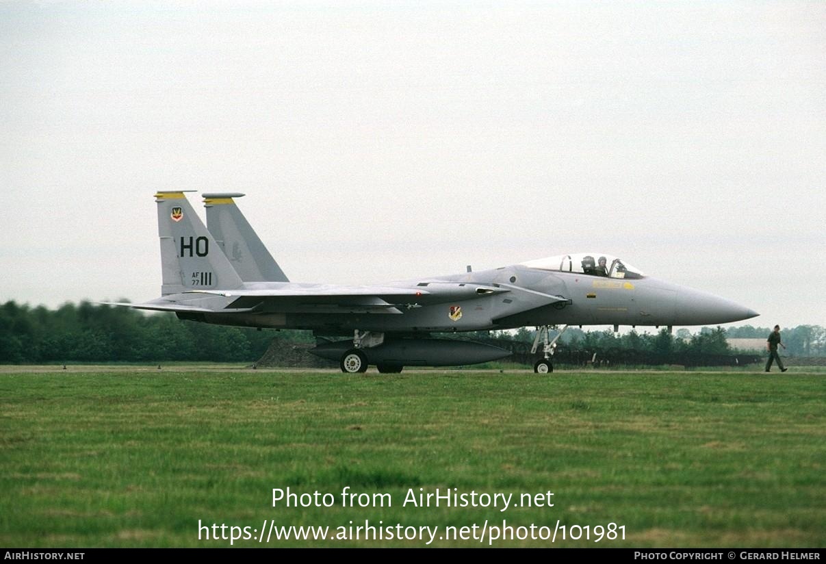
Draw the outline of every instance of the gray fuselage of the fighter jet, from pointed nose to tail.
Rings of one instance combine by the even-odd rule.
[[[513,329],[525,325],[716,325],[742,320],[756,312],[712,294],[653,277],[618,279],[548,271],[514,265],[505,268],[392,282],[384,287],[433,287],[439,283],[483,284],[501,290],[483,296],[428,304],[428,296],[394,312],[363,306],[266,307],[251,313],[180,315],[226,325],[312,329],[320,334],[351,334],[354,329],[386,333],[431,333]],[[278,282],[249,282],[249,289],[277,287]],[[548,300],[548,296],[564,301]],[[223,297],[201,298],[216,306]],[[199,300],[199,301],[201,301]],[[206,304],[205,304],[206,305]],[[317,310],[317,311],[316,311]]]

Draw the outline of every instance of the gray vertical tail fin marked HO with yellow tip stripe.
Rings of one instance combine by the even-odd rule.
[[[244,283],[203,225],[183,191],[158,192],[163,286],[161,294],[192,290],[233,290]]]

